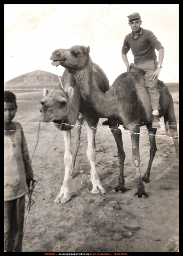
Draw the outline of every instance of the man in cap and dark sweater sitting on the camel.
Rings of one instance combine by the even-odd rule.
[[[127,72],[134,71],[134,68],[139,68],[145,71],[145,82],[150,95],[152,105],[152,127],[160,128],[159,125],[159,90],[157,89],[157,79],[161,71],[161,65],[164,57],[164,47],[157,40],[154,33],[150,30],[141,28],[141,17],[139,13],[132,13],[129,17],[129,26],[132,32],[125,36],[122,47],[122,59],[127,66]],[[134,55],[134,64],[129,65],[127,52],[132,50]],[[159,51],[159,60],[155,49]],[[107,121],[103,123],[107,124]]]

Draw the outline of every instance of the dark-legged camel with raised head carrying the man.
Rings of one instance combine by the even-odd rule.
[[[125,152],[123,150],[122,132],[119,125],[125,125],[131,132],[132,140],[132,159],[136,167],[136,186],[135,195],[141,197],[148,196],[145,191],[143,181],[149,182],[150,169],[152,161],[157,150],[155,145],[155,133],[157,129],[152,128],[152,107],[148,95],[147,86],[145,86],[144,72],[125,72],[118,76],[106,93],[101,92],[98,86],[98,80],[95,77],[95,68],[90,58],[90,47],[75,45],[70,49],[57,49],[52,52],[52,65],[61,65],[68,68],[68,72],[74,75],[81,91],[81,98],[84,99],[92,109],[93,117],[109,120],[109,127],[118,147],[118,161],[120,164],[120,175],[116,191],[125,191],[124,179],[124,161]],[[168,88],[162,81],[157,83],[160,93],[159,115],[164,116],[166,129],[169,129],[175,150],[179,154],[179,143],[177,133],[177,122],[173,108],[173,99]],[[92,117],[92,115],[91,115]],[[139,156],[139,127],[146,125],[150,140],[150,160],[147,172],[141,177],[140,156]],[[154,135],[154,136],[152,136]],[[95,138],[95,129],[93,129],[93,141]],[[93,164],[95,163],[95,154],[93,155]]]

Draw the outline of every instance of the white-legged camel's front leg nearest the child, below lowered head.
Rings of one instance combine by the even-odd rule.
[[[68,191],[68,180],[70,174],[70,168],[72,168],[72,150],[71,150],[71,131],[62,131],[63,138],[65,142],[65,154],[64,154],[64,164],[65,164],[65,175],[63,179],[63,184],[60,189],[60,194],[54,200],[56,204],[65,204],[70,200],[70,195]]]

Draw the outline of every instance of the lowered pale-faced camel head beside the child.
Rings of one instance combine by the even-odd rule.
[[[73,88],[68,87],[67,92],[61,89],[54,89],[48,92],[44,88],[44,98],[41,100],[42,121],[63,124],[68,115],[68,98],[72,97]]]

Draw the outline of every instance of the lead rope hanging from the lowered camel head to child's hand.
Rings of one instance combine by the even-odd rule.
[[[39,122],[39,125],[38,125],[38,137],[37,137],[35,149],[34,149],[33,154],[32,154],[32,156],[31,156],[31,160],[32,160],[32,158],[33,158],[33,156],[34,156],[34,154],[35,154],[36,147],[37,147],[37,145],[38,145],[39,134],[40,134],[40,123],[41,123],[41,118],[40,118],[40,122]],[[58,132],[60,132],[61,127],[62,127],[62,124],[60,125],[60,128],[58,129]],[[48,149],[47,152],[45,153],[44,157],[42,158],[42,161],[44,160],[45,156],[47,155],[47,153],[49,152],[50,148],[52,147],[52,145],[53,145],[53,143],[54,143],[56,137],[58,136],[58,132],[56,133],[56,136],[54,136],[54,140],[52,141],[51,146],[49,147],[49,149]],[[41,161],[41,162],[42,162],[42,161]],[[37,168],[38,168],[38,166],[36,167],[35,170],[37,170]],[[35,172],[35,170],[34,170],[34,172]],[[27,205],[27,207],[26,207],[27,212],[26,212],[26,218],[25,218],[25,224],[24,224],[24,231],[23,231],[23,234],[24,234],[24,232],[25,232],[25,230],[26,230],[26,227],[27,227],[27,224],[28,224],[28,214],[29,214],[29,211],[30,211],[30,209],[31,209],[31,206],[35,203],[35,201],[32,199],[33,192],[38,193],[38,191],[35,191],[35,190],[34,190],[34,189],[35,189],[35,186],[36,186],[36,184],[39,184],[42,188],[44,188],[44,187],[39,183],[39,180],[40,180],[39,177],[38,177],[37,175],[35,175],[35,173],[34,173],[34,174],[33,174],[33,178],[34,178],[35,176],[37,177],[37,180],[35,180],[35,179],[32,179],[32,180],[31,180],[31,184],[30,184],[29,191],[28,191],[28,198],[29,198],[29,200],[28,200],[28,205]]]

